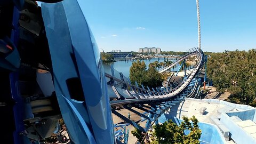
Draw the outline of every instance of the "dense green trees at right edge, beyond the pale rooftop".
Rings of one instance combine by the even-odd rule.
[[[207,60],[207,75],[217,90],[228,90],[230,102],[255,106],[256,51],[212,53]]]

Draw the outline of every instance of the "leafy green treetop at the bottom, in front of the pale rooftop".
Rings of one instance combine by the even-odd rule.
[[[198,143],[201,138],[201,130],[198,126],[198,121],[195,116],[188,119],[183,117],[183,122],[180,126],[173,123],[171,120],[163,124],[153,126],[153,140],[151,143]],[[189,122],[191,120],[191,123]],[[184,131],[189,130],[190,133],[185,135]]]

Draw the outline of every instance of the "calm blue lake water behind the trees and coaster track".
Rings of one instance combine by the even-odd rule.
[[[171,61],[176,61],[175,59],[169,59]],[[141,60],[142,61],[142,60]],[[164,62],[164,59],[150,59],[150,60],[143,60],[148,68],[149,63],[154,62],[154,61],[158,61],[158,62]],[[116,61],[116,62],[111,62],[111,63],[104,63],[103,66],[105,68],[105,72],[108,74],[111,74],[111,70],[110,70],[110,65],[112,64],[114,69],[116,69],[117,71],[120,71],[123,73],[123,75],[125,77],[129,77],[130,74],[130,67],[132,66],[132,62],[131,60],[126,60],[126,61]],[[177,71],[179,69],[179,67],[174,68],[174,71]]]

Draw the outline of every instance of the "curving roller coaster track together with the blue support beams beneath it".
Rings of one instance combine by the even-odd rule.
[[[204,63],[204,54],[201,49],[194,48],[189,50],[190,52],[183,55],[179,60],[172,63],[172,65],[159,71],[159,73],[164,73],[165,71],[171,69],[173,66],[177,65],[179,62],[191,57],[196,56],[198,62],[191,72],[183,79],[183,81],[174,87],[174,89],[157,89],[152,90],[145,89],[144,86],[139,87],[138,85],[132,85],[129,82],[124,81],[115,77],[114,75],[105,74],[108,81],[108,92],[110,96],[110,106],[112,113],[123,119],[127,124],[131,124],[140,131],[147,132],[148,129],[153,125],[153,123],[158,123],[158,118],[167,110],[170,109],[175,103],[184,100],[183,98],[196,97],[198,94],[198,82],[196,77],[201,72]],[[111,93],[111,94],[110,94]],[[116,97],[113,97],[116,94]],[[112,96],[111,96],[112,95]],[[145,113],[139,113],[138,110],[145,111]],[[128,109],[132,113],[137,114],[143,119],[147,119],[148,122],[144,127],[141,127],[137,123],[131,121],[130,118],[118,113],[119,109]]]

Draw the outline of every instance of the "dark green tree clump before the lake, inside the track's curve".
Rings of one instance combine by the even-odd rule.
[[[164,81],[163,76],[158,73],[155,68],[159,68],[158,61],[149,64],[149,69],[144,61],[133,62],[130,68],[130,80],[134,84],[135,81],[138,85],[143,84],[144,86],[157,87]]]

